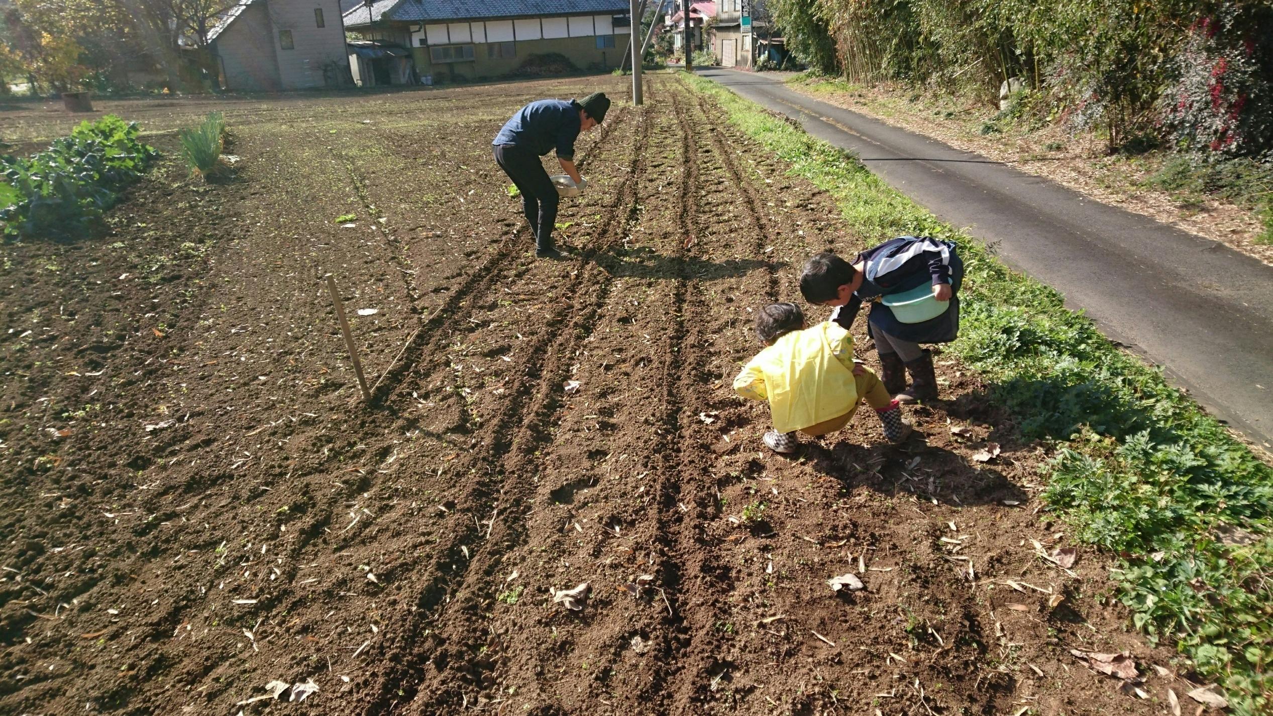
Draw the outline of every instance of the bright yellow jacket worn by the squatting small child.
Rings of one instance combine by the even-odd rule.
[[[733,390],[768,399],[780,433],[839,418],[858,404],[853,335],[830,321],[792,331],[743,366]]]

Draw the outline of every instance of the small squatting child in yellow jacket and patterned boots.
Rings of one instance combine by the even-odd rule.
[[[773,303],[756,316],[756,338],[765,344],[733,390],[750,400],[768,400],[774,429],[764,441],[774,452],[794,452],[796,431],[808,436],[835,432],[849,423],[861,399],[875,408],[890,442],[901,442],[911,427],[883,383],[853,359],[853,335],[827,321],[813,327],[794,303]]]

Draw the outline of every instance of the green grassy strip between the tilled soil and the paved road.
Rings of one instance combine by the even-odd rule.
[[[679,76],[789,173],[831,194],[862,242],[915,234],[959,245],[966,275],[951,350],[985,377],[1026,438],[1057,448],[1044,499],[1077,539],[1115,555],[1111,577],[1136,628],[1174,642],[1222,684],[1234,713],[1268,713],[1273,469],[1059,293],[1009,270],[857,157],[710,80]],[[1221,540],[1235,541],[1235,529],[1246,544]]]

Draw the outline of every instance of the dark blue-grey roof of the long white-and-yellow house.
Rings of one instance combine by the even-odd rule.
[[[376,0],[372,22],[432,23],[537,15],[626,14],[626,0]],[[345,13],[345,25],[367,24],[367,6]]]

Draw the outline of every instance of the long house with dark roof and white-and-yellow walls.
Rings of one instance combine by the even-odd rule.
[[[345,6],[346,29],[409,48],[415,73],[433,82],[612,70],[622,62],[631,31],[628,0],[372,0]]]

